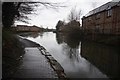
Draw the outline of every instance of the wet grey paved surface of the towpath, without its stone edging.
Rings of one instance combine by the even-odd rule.
[[[57,78],[57,74],[37,47],[26,47],[22,64],[13,77]]]

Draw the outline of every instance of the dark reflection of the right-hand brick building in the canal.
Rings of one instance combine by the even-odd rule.
[[[81,55],[109,77],[119,77],[120,51],[118,47],[82,42]]]

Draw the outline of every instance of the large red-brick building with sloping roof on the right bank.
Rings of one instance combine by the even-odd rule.
[[[120,1],[108,2],[82,18],[86,34],[120,34]]]

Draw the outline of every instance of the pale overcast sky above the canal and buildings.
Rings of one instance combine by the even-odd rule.
[[[38,0],[39,1],[39,0]],[[86,15],[89,11],[93,10],[96,7],[99,7],[111,0],[40,0],[40,1],[51,1],[51,2],[59,2],[63,3],[67,7],[59,8],[57,10],[54,9],[46,9],[41,7],[37,8],[37,15],[33,14],[30,16],[31,20],[29,21],[29,25],[43,26],[44,28],[55,28],[58,20],[67,21],[67,16],[70,13],[70,10],[76,6],[76,9],[82,10],[82,16]],[[81,17],[82,17],[81,16]],[[25,23],[17,23],[17,24],[25,24]],[[27,24],[28,25],[28,24]]]

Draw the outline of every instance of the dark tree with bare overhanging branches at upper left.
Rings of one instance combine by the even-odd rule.
[[[15,20],[28,23],[29,14],[33,14],[35,7],[43,6],[46,8],[58,9],[66,7],[61,3],[51,2],[3,2],[2,3],[2,22],[4,27],[10,27]]]

